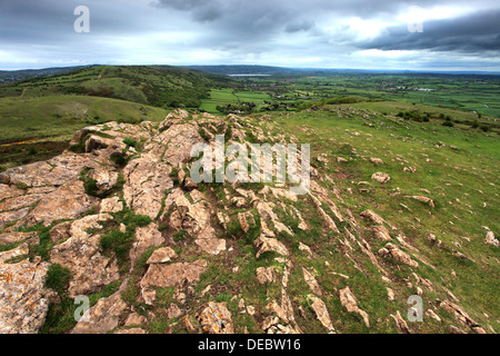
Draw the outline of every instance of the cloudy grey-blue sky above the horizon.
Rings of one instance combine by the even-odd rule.
[[[500,0],[0,0],[0,69],[92,63],[500,71]]]

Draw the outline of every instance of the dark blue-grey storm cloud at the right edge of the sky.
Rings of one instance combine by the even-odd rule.
[[[407,26],[390,27],[358,46],[380,50],[500,51],[500,10],[424,21],[422,33],[411,33]]]

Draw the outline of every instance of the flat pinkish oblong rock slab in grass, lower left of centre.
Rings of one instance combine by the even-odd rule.
[[[141,287],[178,287],[183,284],[192,285],[200,280],[207,270],[207,261],[201,259],[191,264],[171,264],[149,266],[141,280]]]

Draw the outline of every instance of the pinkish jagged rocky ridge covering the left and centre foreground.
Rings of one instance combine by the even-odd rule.
[[[299,197],[279,184],[194,184],[190,149],[216,135],[298,142],[271,121],[176,110],[159,125],[84,128],[62,155],[0,174],[0,333],[50,332],[51,308],[77,296],[100,298],[63,332],[496,333],[401,228],[354,212],[318,169]],[[499,246],[491,231],[484,243]],[[63,290],[47,284],[54,265],[69,271]],[[404,319],[411,295],[429,328]]]

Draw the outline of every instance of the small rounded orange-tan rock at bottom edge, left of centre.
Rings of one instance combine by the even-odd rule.
[[[226,303],[210,301],[198,315],[201,328],[207,334],[234,334],[231,313]]]

